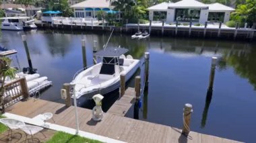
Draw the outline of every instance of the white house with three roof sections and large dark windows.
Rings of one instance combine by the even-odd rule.
[[[226,23],[230,19],[233,8],[220,3],[204,4],[195,0],[182,0],[177,3],[160,3],[148,7],[149,19],[164,20],[167,23],[174,21],[205,23],[215,21]]]

